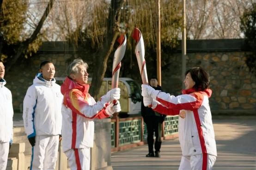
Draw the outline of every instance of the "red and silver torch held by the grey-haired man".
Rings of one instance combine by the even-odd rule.
[[[124,53],[126,50],[126,36],[125,34],[121,34],[118,38],[119,46],[115,51],[114,59],[113,59],[113,67],[112,67],[112,89],[118,87],[118,78],[119,78],[119,71],[121,68],[121,61],[124,57]],[[116,103],[116,100],[113,101]]]

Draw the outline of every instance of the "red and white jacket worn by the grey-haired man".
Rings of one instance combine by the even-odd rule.
[[[61,111],[64,152],[74,148],[93,147],[93,119],[110,116],[105,111],[108,103],[95,102],[88,91],[89,85],[79,85],[68,77],[61,85],[61,93],[64,95]]]

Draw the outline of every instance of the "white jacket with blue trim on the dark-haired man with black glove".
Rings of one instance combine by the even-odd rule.
[[[38,73],[23,101],[23,121],[28,138],[61,134],[61,86]]]

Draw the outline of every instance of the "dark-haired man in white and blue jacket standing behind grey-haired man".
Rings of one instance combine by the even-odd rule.
[[[32,146],[30,170],[54,170],[61,140],[61,87],[52,62],[40,64],[23,102],[25,132]]]

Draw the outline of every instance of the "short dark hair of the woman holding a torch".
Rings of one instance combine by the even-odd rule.
[[[194,67],[186,71],[185,76],[190,73],[191,78],[195,81],[194,89],[196,91],[203,91],[209,88],[210,79],[207,72],[201,67]]]

